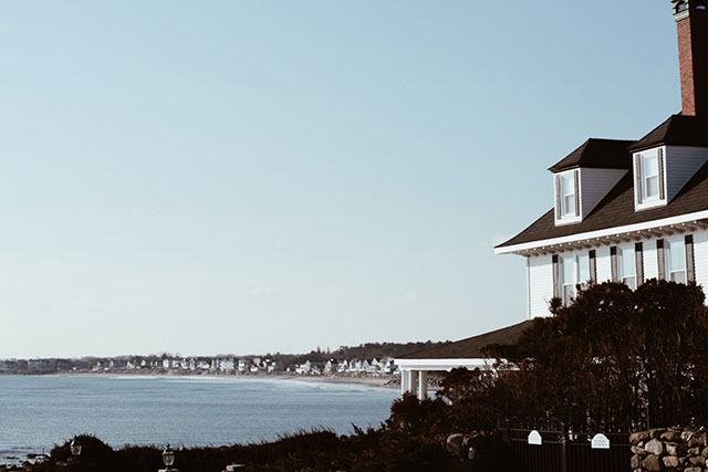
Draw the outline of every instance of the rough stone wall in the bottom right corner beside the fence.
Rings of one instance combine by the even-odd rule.
[[[633,472],[708,471],[704,428],[656,428],[629,436]]]

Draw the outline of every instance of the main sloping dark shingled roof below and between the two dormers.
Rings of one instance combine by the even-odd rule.
[[[553,209],[551,209],[535,220],[529,228],[509,241],[499,244],[497,248],[643,223],[707,209],[708,164],[704,165],[698,172],[696,172],[667,206],[644,211],[634,210],[633,176],[632,172],[627,172],[582,222],[556,227]]]

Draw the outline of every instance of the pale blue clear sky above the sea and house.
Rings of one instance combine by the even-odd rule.
[[[0,357],[523,321],[546,168],[680,107],[669,2],[608,3],[3,3]]]

